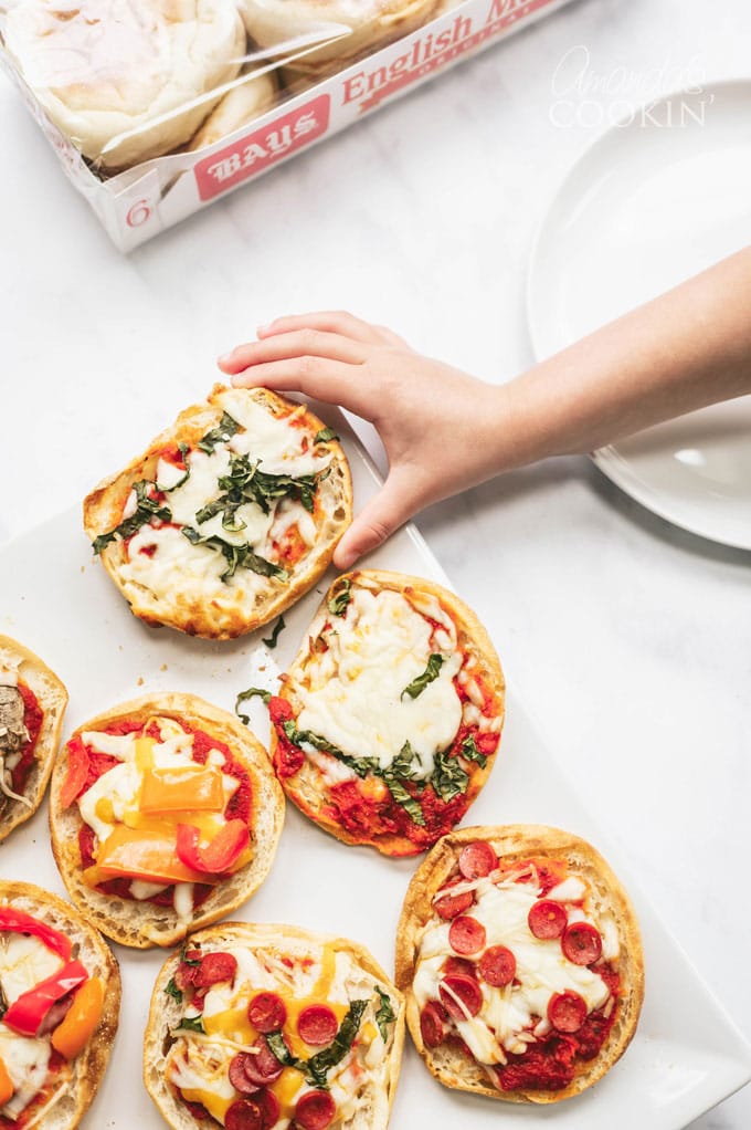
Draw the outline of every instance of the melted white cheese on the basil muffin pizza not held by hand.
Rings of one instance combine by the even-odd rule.
[[[417,776],[433,774],[438,749],[451,745],[462,722],[453,678],[462,655],[444,655],[438,677],[416,697],[404,688],[426,670],[431,627],[401,593],[352,589],[347,612],[329,633],[329,651],[313,652],[298,688],[300,730],[311,730],[353,757],[374,757],[387,768],[409,741]]]

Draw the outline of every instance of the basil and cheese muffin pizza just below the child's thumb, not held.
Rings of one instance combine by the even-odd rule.
[[[413,855],[486,783],[505,684],[488,633],[422,577],[338,577],[270,702],[271,756],[300,811],[350,844]]]

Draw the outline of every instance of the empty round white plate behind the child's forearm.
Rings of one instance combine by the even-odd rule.
[[[527,286],[538,358],[751,243],[750,202],[751,81],[672,95],[611,129],[570,169],[538,233]],[[751,397],[594,459],[669,521],[751,549]]]

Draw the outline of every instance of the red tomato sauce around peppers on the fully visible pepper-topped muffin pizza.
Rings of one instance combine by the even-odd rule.
[[[253,789],[251,783],[251,777],[247,771],[232,756],[229,746],[224,741],[216,741],[210,738],[208,733],[203,730],[199,730],[195,727],[190,725],[187,722],[180,723],[186,733],[193,734],[193,760],[199,765],[204,765],[206,759],[211,749],[218,749],[225,755],[225,764],[221,767],[222,773],[227,773],[229,776],[234,776],[236,781],[239,782],[239,786],[235,791],[234,796],[230,797],[224,816],[227,820],[244,820],[246,824],[251,819],[251,810],[253,807]],[[159,739],[159,728],[156,722],[150,722],[149,725],[143,730],[142,722],[134,722],[129,719],[124,719],[121,722],[113,722],[105,727],[102,731],[103,733],[110,733],[114,736],[124,736],[128,733],[140,733],[147,738]],[[101,754],[93,751],[90,747],[88,749],[89,757],[89,771],[86,777],[86,784],[79,798],[87,792],[91,785],[103,776],[108,770],[113,768],[115,765],[122,764],[119,758],[113,757],[111,754]],[[96,835],[94,829],[82,822],[81,827],[78,832],[78,847],[81,855],[81,868],[93,867],[96,863],[95,859],[95,847],[96,847]],[[101,890],[104,895],[113,895],[116,898],[133,898],[130,893],[131,879],[116,878],[108,879],[106,883],[101,883],[97,886],[97,890]],[[193,886],[193,905],[200,906],[201,903],[211,894],[211,886],[209,884],[197,883]],[[147,899],[139,899],[141,902],[154,903],[157,906],[174,906],[175,887],[174,884],[165,887],[164,890],[159,892],[157,895],[152,895]],[[16,1125],[16,1123],[11,1123]],[[2,1123],[0,1122],[0,1130],[3,1130]]]

